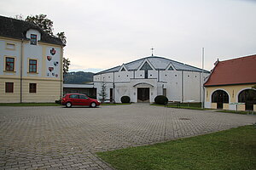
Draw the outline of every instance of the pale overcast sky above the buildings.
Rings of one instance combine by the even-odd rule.
[[[1,15],[47,14],[64,31],[70,71],[102,71],[154,55],[205,69],[256,54],[256,0],[8,0]]]

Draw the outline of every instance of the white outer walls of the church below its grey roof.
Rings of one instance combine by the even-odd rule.
[[[135,74],[135,78],[134,77]],[[131,102],[137,102],[137,88],[149,88],[150,102],[154,102],[157,95],[163,94],[163,88],[166,88],[166,97],[173,101],[195,100],[199,102],[200,97],[200,72],[193,71],[148,71],[148,79],[144,79],[144,71],[119,71],[114,73],[114,98],[116,102],[120,102],[120,98],[128,95]],[[208,74],[205,74],[207,76]],[[128,76],[128,77],[127,77]],[[159,80],[158,80],[159,79]],[[113,72],[95,75],[93,78],[95,87],[97,88],[97,97],[102,88],[102,82],[107,83],[107,92],[109,88],[113,88]],[[150,85],[136,85],[139,82],[146,82]],[[108,97],[109,98],[109,93]]]

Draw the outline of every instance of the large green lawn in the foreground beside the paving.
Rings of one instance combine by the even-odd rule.
[[[97,155],[119,170],[256,169],[256,126]]]

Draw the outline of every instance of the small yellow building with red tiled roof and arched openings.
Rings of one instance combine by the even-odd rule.
[[[204,84],[205,107],[256,111],[256,55],[217,61]]]

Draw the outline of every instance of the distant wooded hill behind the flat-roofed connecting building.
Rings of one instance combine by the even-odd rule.
[[[92,72],[68,72],[64,75],[65,84],[84,84],[85,82],[92,82],[94,73]]]

